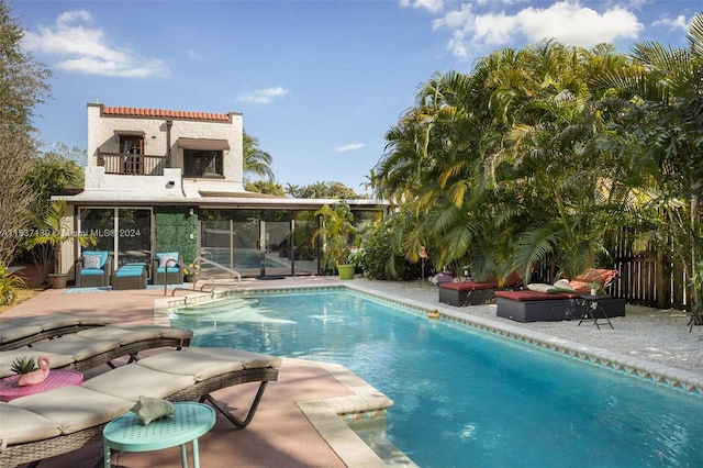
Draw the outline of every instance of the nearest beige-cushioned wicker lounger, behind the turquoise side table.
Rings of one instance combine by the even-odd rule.
[[[85,381],[0,403],[0,466],[69,453],[102,439],[107,423],[130,411],[141,395],[215,403],[237,428],[256,413],[281,359],[230,348],[188,348],[146,357]],[[260,382],[245,416],[232,414],[211,393]]]

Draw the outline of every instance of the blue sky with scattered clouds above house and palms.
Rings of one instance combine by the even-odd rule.
[[[14,0],[23,46],[54,73],[35,126],[86,148],[87,104],[242,112],[278,182],[365,192],[384,133],[435,71],[543,38],[685,47],[685,0]]]

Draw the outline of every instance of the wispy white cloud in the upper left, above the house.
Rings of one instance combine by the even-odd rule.
[[[41,26],[38,33],[27,31],[23,46],[30,52],[56,56],[57,68],[78,74],[116,77],[168,75],[168,66],[163,60],[107,44],[101,29],[82,24],[90,22],[92,16],[86,10],[62,13],[52,26]]]

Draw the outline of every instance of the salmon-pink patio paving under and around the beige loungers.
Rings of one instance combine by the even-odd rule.
[[[311,281],[334,283],[332,279],[289,278],[286,286]],[[246,282],[246,286],[271,287],[277,281]],[[1,320],[25,315],[71,312],[111,316],[113,323],[152,323],[154,300],[164,298],[163,290],[127,290],[88,293],[65,293],[66,290],[46,290],[0,315]],[[177,293],[181,296],[182,293]],[[0,322],[1,323],[1,322]],[[86,378],[108,370],[107,366],[87,372]],[[246,406],[257,389],[256,383],[219,390],[214,397],[235,410],[238,402]],[[202,467],[344,467],[345,464],[317,433],[298,406],[298,402],[350,395],[353,392],[319,365],[284,359],[279,380],[271,382],[252,424],[235,431],[223,416],[199,439]],[[190,450],[189,450],[190,453]],[[102,445],[85,447],[71,454],[42,461],[41,467],[94,467],[102,457]],[[373,466],[383,464],[371,464]],[[113,457],[119,467],[180,466],[180,452],[170,448],[149,453],[123,453]]]

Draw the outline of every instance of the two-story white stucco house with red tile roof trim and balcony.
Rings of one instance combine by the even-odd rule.
[[[269,197],[243,188],[243,116],[88,104],[85,190],[67,200],[74,229],[113,255],[113,268],[159,252],[210,258],[242,276],[319,272],[313,215],[336,200]],[[301,161],[304,164],[304,161]],[[359,224],[388,204],[348,200]],[[64,247],[72,275],[81,255]]]

